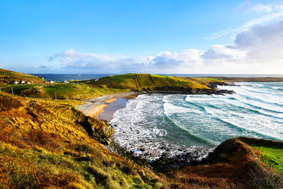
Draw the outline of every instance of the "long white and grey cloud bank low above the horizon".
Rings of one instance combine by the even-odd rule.
[[[48,59],[63,69],[91,73],[282,74],[283,21],[258,25],[238,33],[232,45],[212,45],[207,51],[160,52],[126,57],[66,50]]]

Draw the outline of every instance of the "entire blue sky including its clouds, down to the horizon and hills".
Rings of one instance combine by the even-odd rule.
[[[0,68],[282,74],[283,1],[0,1]]]

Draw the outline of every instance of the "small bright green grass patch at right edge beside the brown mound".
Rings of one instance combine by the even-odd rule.
[[[272,167],[277,173],[283,173],[283,148],[276,145],[257,145],[251,144],[251,147],[260,151],[260,157],[267,166]]]

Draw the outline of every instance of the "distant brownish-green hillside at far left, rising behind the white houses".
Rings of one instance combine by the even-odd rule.
[[[0,69],[0,86],[8,84],[10,81],[30,81],[30,83],[42,83],[45,80],[38,76],[29,74],[22,74],[16,71],[10,71],[6,69]]]

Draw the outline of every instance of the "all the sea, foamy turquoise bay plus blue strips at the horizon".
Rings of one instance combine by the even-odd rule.
[[[109,74],[36,74],[45,80],[87,80]],[[174,74],[262,77],[282,75]],[[226,95],[142,94],[127,101],[110,121],[114,141],[149,161],[190,153],[200,160],[232,137],[283,140],[283,82],[218,86]]]

